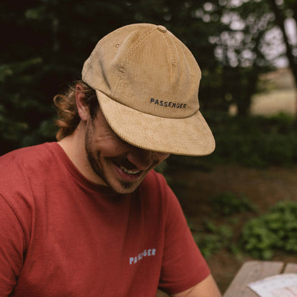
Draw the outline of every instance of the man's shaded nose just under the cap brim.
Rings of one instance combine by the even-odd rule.
[[[152,165],[155,165],[153,151],[146,151],[143,148],[137,148],[131,146],[131,149],[127,153],[127,158],[131,163],[137,167],[138,170],[146,171]]]

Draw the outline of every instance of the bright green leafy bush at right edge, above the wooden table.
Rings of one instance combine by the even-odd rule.
[[[270,259],[275,251],[297,254],[297,203],[283,201],[246,223],[243,247],[256,258]]]

